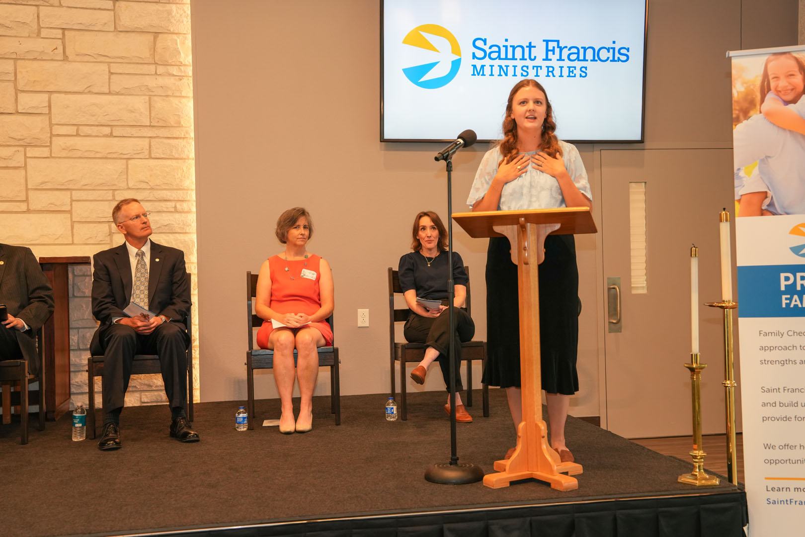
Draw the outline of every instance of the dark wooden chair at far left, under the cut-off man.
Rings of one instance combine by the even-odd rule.
[[[42,364],[39,374],[28,373],[27,360],[0,361],[0,384],[2,384],[2,422],[10,423],[11,407],[19,404],[20,444],[28,443],[28,384],[39,382],[36,403],[39,405],[39,431],[45,430],[45,362],[43,360],[42,328],[36,331],[36,352]],[[11,389],[19,384],[19,401],[11,397]],[[16,392],[15,392],[16,394]]]

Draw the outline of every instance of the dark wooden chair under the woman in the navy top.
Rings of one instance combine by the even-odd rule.
[[[464,271],[469,276],[469,266],[464,266]],[[394,361],[400,365],[400,417],[408,419],[407,393],[406,393],[406,364],[410,361],[422,361],[425,356],[426,345],[422,343],[397,343],[394,341],[394,324],[404,322],[408,319],[411,312],[407,307],[402,309],[394,308],[394,295],[402,295],[403,289],[400,287],[398,271],[389,267],[389,354],[391,370],[391,396],[396,398],[397,391],[394,386]],[[466,306],[470,316],[470,292],[467,283]],[[461,344],[461,359],[467,362],[467,406],[473,406],[473,360],[481,360],[481,364],[486,365],[486,342],[467,341]],[[483,385],[484,417],[489,417],[489,386]]]

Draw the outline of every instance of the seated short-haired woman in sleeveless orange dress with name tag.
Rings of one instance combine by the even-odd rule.
[[[327,319],[334,300],[328,262],[307,250],[313,237],[308,211],[288,209],[279,216],[275,233],[285,251],[262,263],[254,311],[263,319],[257,344],[274,350],[274,378],[282,405],[279,432],[288,435],[312,428],[313,388],[319,374],[316,348],[332,345]],[[299,418],[294,421],[291,397],[295,380],[299,381],[301,402]]]

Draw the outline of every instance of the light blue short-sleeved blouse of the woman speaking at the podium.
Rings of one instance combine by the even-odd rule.
[[[587,171],[584,163],[581,162],[581,155],[576,146],[571,143],[559,140],[559,147],[562,148],[562,159],[564,167],[568,170],[568,175],[573,180],[573,184],[579,188],[580,192],[592,200],[590,184],[587,179]],[[534,155],[536,151],[530,151],[526,155]],[[493,147],[486,151],[481,165],[475,174],[473,187],[469,190],[467,204],[473,204],[485,196],[486,191],[492,184],[494,176],[497,174],[497,163],[502,159],[501,151],[498,147]],[[497,209],[501,211],[514,211],[526,209],[558,209],[566,207],[562,189],[559,182],[553,176],[549,176],[544,171],[539,171],[535,167],[528,167],[528,171],[519,176],[514,181],[503,185],[500,204]]]

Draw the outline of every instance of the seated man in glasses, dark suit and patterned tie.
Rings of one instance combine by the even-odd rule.
[[[104,423],[98,448],[118,449],[120,413],[129,386],[135,354],[157,354],[162,365],[167,403],[171,407],[170,435],[197,442],[184,404],[188,398],[187,348],[184,323],[190,322],[190,285],[184,252],[151,242],[151,221],[138,200],[121,200],[112,220],[126,242],[93,258],[93,315],[100,321],[90,351],[104,355]],[[152,316],[129,316],[130,304]]]

